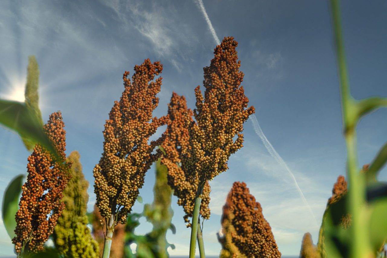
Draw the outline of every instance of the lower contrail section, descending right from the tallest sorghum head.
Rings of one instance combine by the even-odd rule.
[[[269,152],[269,154],[277,161],[277,163],[280,166],[284,167],[289,172],[289,174],[291,175],[291,178],[293,179],[294,184],[295,184],[296,188],[298,189],[298,192],[300,193],[300,196],[301,196],[304,204],[308,207],[308,209],[310,211],[310,214],[312,214],[313,219],[315,220],[316,225],[318,226],[319,224],[317,223],[315,215],[313,214],[312,209],[310,208],[309,203],[307,202],[307,199],[305,198],[304,194],[302,193],[301,188],[298,185],[297,180],[296,180],[294,174],[291,172],[291,170],[289,169],[288,165],[286,165],[285,161],[281,158],[281,156],[278,154],[278,152],[274,149],[273,145],[271,145],[269,140],[267,140],[264,132],[262,132],[262,129],[259,126],[259,123],[258,123],[258,120],[257,120],[257,117],[255,116],[255,114],[253,114],[251,116],[251,121],[253,123],[253,128],[254,128],[255,133],[257,133],[259,138],[261,138],[262,143],[265,145],[265,147],[266,147],[267,151]]]

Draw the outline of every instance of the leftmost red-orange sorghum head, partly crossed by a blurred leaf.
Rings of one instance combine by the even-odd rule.
[[[53,161],[52,154],[39,144],[28,157],[27,182],[22,186],[19,210],[15,215],[16,236],[12,239],[17,255],[23,251],[37,253],[53,232],[65,204],[61,201],[71,175],[68,169],[71,162],[66,162],[66,131],[63,129],[62,115],[58,111],[50,115],[50,120],[43,126],[58,158]]]

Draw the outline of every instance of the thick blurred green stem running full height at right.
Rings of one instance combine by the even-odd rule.
[[[358,101],[351,96],[349,79],[344,53],[344,40],[341,31],[340,6],[338,0],[331,0],[332,18],[334,27],[334,38],[336,44],[337,63],[339,66],[340,92],[342,104],[342,116],[344,125],[344,137],[347,145],[347,176],[348,176],[348,209],[351,214],[351,240],[350,257],[363,258],[372,255],[372,249],[368,242],[368,230],[363,205],[365,204],[365,182],[359,173],[357,146],[356,146],[356,125],[359,119]],[[372,107],[363,108],[363,113]]]

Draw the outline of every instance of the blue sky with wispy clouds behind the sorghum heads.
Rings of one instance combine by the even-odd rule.
[[[122,73],[146,58],[163,63],[163,85],[155,116],[167,111],[172,92],[194,108],[194,88],[202,84],[216,37],[239,42],[245,94],[259,124],[300,186],[307,207],[288,171],[267,152],[251,119],[245,123],[244,147],[232,155],[229,170],[210,182],[211,219],[204,222],[205,248],[218,255],[222,206],[234,181],[245,181],[263,207],[283,255],[298,255],[310,232],[316,243],[333,183],[345,173],[345,144],[327,1],[204,0],[215,38],[197,0],[192,1],[0,1],[0,97],[22,101],[29,55],[40,67],[43,120],[62,111],[67,154],[78,150],[92,208],[92,169],[102,153],[103,125],[123,91]],[[349,77],[355,98],[387,96],[387,17],[385,1],[342,3]],[[358,126],[360,165],[372,161],[385,142],[386,111],[379,110]],[[157,137],[162,133],[158,130]],[[0,190],[26,173],[27,152],[19,137],[0,128]],[[380,179],[386,179],[382,171]],[[154,167],[140,190],[144,203],[153,199]],[[3,191],[0,191],[0,201]],[[173,197],[177,232],[168,233],[186,255],[189,229]],[[136,203],[135,212],[143,205]],[[312,211],[312,213],[310,212]],[[314,219],[315,218],[315,219]],[[316,223],[317,220],[317,223]],[[144,222],[143,220],[141,220]],[[145,222],[137,233],[151,229]],[[13,246],[0,223],[0,256]]]

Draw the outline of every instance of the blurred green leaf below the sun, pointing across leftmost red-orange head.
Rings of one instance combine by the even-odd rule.
[[[43,132],[39,119],[25,104],[0,99],[0,124],[18,133],[20,137],[27,139],[33,145],[39,142],[51,154],[58,157],[55,148]]]

